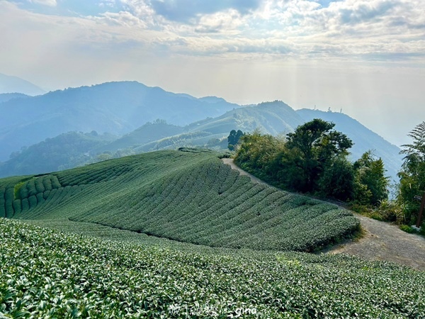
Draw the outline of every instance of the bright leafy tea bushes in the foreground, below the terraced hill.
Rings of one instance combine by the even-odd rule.
[[[215,313],[216,318],[425,316],[425,277],[407,267],[344,255],[237,252],[188,244],[176,249],[155,238],[149,245],[149,238],[145,244],[98,240],[0,218],[0,314],[6,318],[212,318]]]

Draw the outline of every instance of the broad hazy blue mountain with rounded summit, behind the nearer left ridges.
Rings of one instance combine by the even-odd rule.
[[[0,161],[11,152],[69,131],[130,133],[158,118],[188,125],[237,107],[173,94],[138,82],[111,82],[0,103]]]

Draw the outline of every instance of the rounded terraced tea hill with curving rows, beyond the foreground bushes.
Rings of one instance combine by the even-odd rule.
[[[358,228],[350,212],[254,184],[214,152],[152,152],[0,187],[6,217],[69,218],[212,247],[311,251]]]

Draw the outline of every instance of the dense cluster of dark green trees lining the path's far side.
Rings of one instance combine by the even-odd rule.
[[[350,162],[353,142],[333,128],[334,123],[314,119],[285,138],[255,131],[241,137],[234,160],[283,189],[378,205],[388,196],[382,159],[365,152]]]

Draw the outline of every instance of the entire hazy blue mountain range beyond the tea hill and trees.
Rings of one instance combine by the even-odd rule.
[[[336,130],[353,140],[351,159],[374,150],[392,179],[402,164],[397,146],[342,113],[294,111],[282,101],[242,107],[216,96],[198,99],[138,82],[82,86],[42,96],[0,94],[0,113],[0,177],[152,150],[225,149],[231,130],[285,135],[313,118],[334,122]]]

